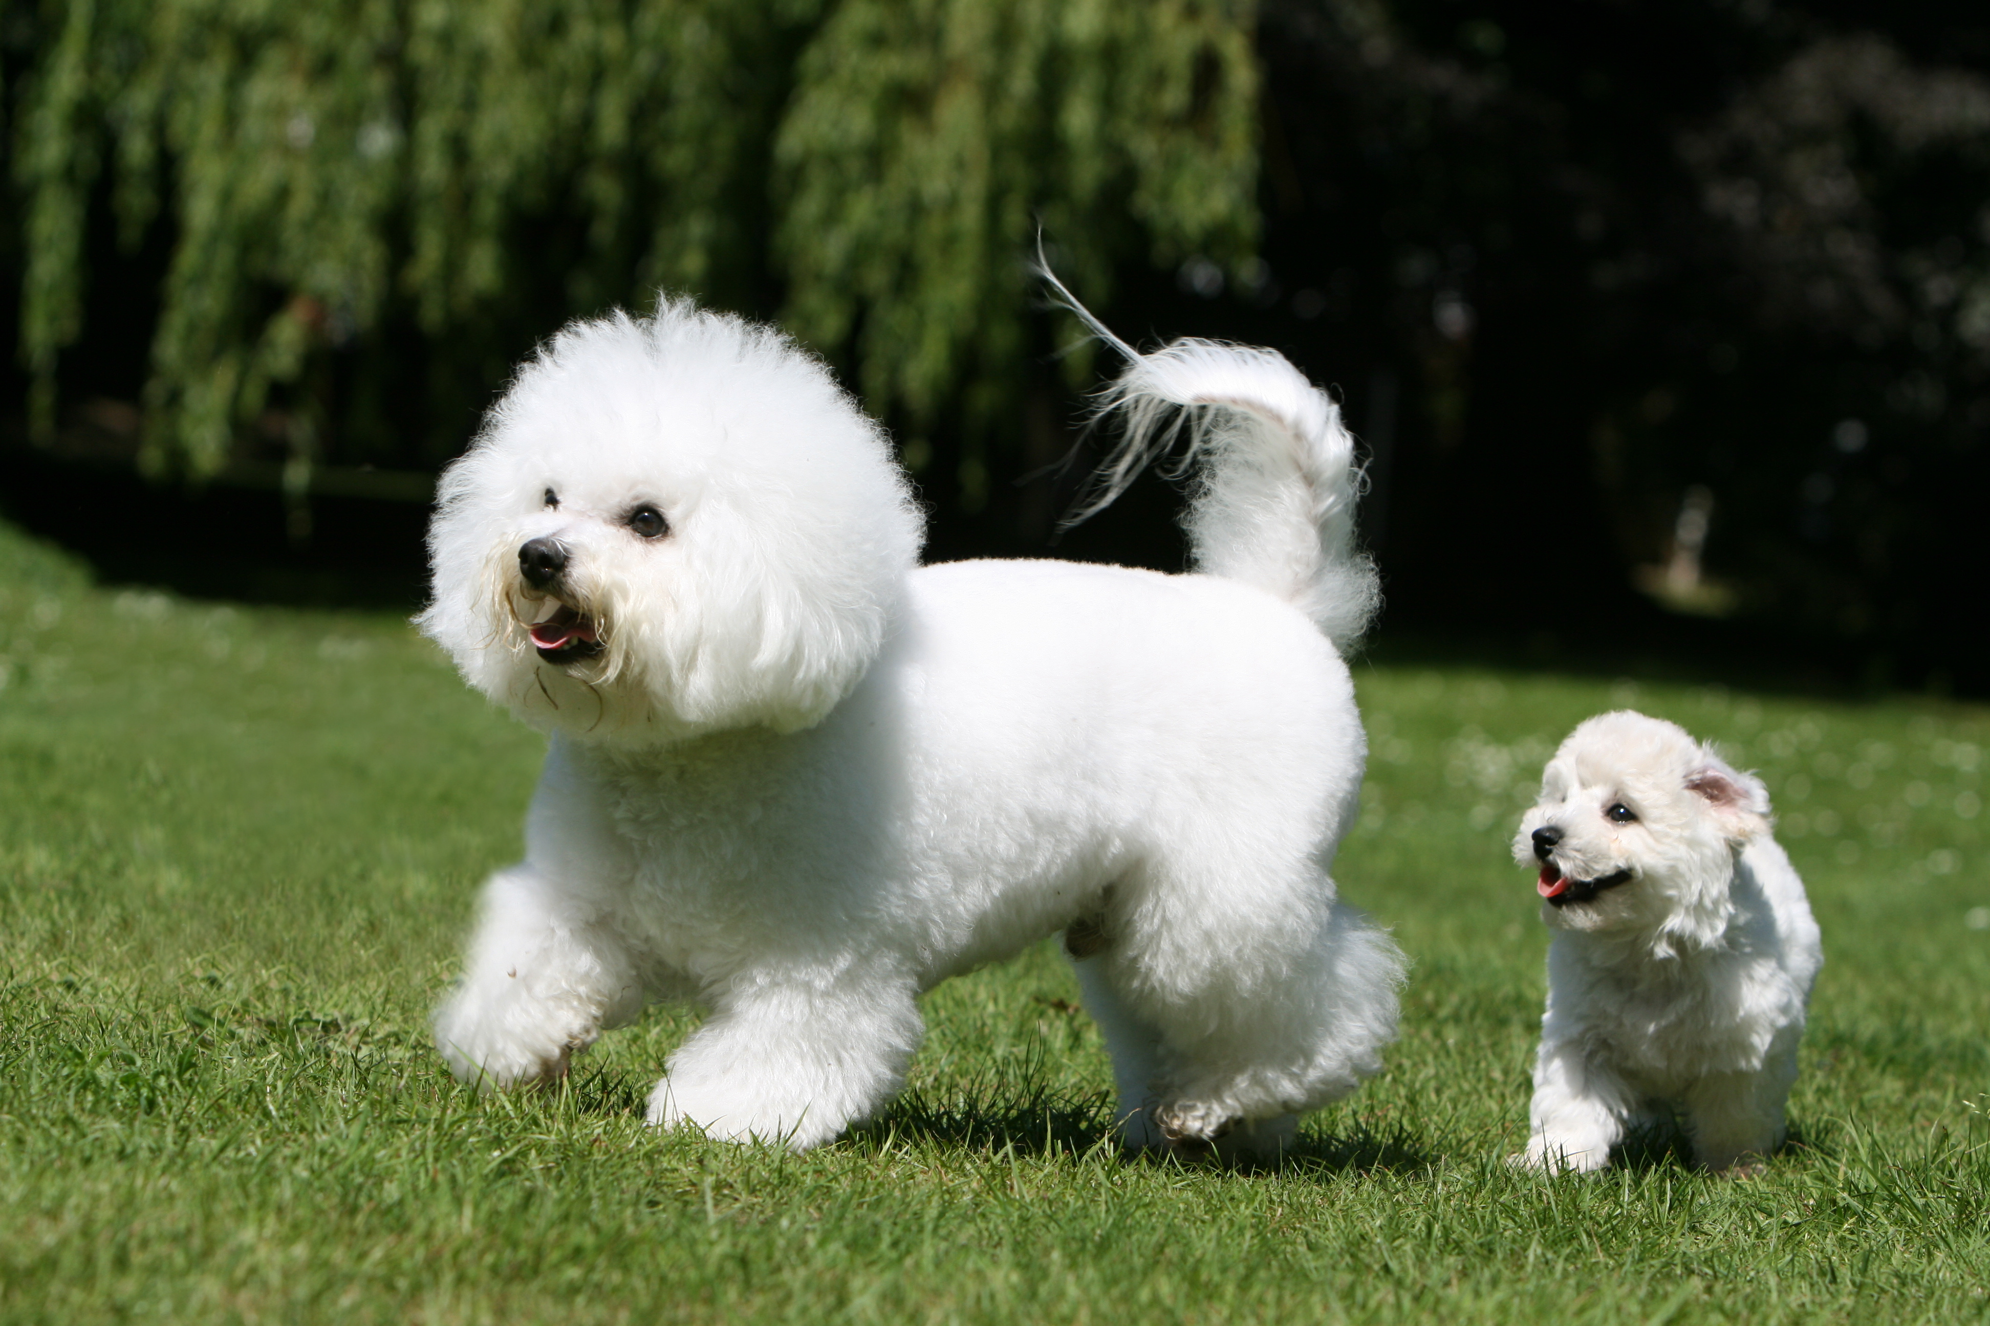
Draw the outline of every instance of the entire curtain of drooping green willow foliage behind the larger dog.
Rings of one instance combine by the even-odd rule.
[[[1256,233],[1242,2],[46,0],[6,36],[34,427],[88,394],[107,207],[165,256],[155,473],[434,463],[533,338],[659,286],[985,423],[1039,225],[1094,296]]]

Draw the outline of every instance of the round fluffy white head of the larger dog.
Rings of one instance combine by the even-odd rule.
[[[442,475],[416,622],[545,730],[792,732],[864,676],[921,539],[884,433],[814,356],[665,300],[519,370]]]

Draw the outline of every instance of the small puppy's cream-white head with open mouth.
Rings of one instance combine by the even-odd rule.
[[[1554,751],[1512,855],[1540,867],[1550,926],[1640,930],[1670,948],[1721,934],[1735,853],[1767,831],[1761,779],[1676,724],[1620,710]]]

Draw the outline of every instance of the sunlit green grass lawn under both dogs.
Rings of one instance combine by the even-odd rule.
[[[380,614],[96,588],[0,527],[0,1320],[1815,1322],[1990,1316],[1990,712],[1357,668],[1335,871],[1415,960],[1387,1072],[1280,1173],[1122,1159],[1051,946],[933,992],[899,1103],[804,1157],[651,1133],[693,1016],[478,1101],[428,1046],[539,740]],[[1546,932],[1506,859],[1576,720],[1761,769],[1825,928],[1753,1179],[1526,1127]]]

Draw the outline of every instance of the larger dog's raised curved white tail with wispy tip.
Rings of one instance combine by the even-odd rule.
[[[1045,266],[1045,280],[1126,372],[1098,398],[1120,439],[1067,525],[1106,507],[1150,463],[1196,463],[1184,525],[1196,571],[1244,580],[1305,612],[1347,654],[1381,604],[1375,563],[1355,549],[1365,475],[1341,410],[1286,356],[1176,340],[1140,354]]]

